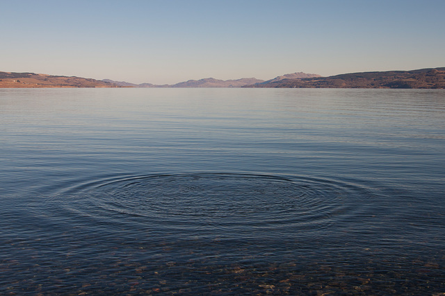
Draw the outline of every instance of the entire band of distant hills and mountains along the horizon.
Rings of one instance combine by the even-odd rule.
[[[140,85],[114,80],[96,80],[76,76],[51,76],[36,73],[0,72],[0,88],[368,88],[368,89],[445,89],[445,67],[411,71],[375,71],[321,77],[317,74],[292,73],[264,81],[257,78],[218,80],[204,78],[176,85]]]

